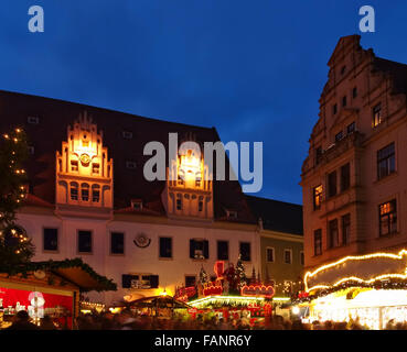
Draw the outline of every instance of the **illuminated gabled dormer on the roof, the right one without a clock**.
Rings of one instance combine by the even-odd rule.
[[[162,200],[170,217],[213,219],[212,175],[201,150],[192,140],[182,143],[167,169]]]

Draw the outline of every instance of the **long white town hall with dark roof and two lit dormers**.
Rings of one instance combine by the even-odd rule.
[[[239,183],[228,180],[227,158],[226,180],[211,180],[196,150],[219,141],[214,128],[0,91],[0,129],[11,127],[24,129],[30,145],[18,223],[33,239],[33,261],[82,257],[117,283],[90,300],[174,294],[194,285],[202,266],[213,273],[216,261],[236,264],[239,254],[247,276],[261,272],[259,224]],[[143,175],[151,141],[168,151],[165,180]]]

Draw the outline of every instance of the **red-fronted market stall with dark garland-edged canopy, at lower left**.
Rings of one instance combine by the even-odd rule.
[[[15,266],[0,273],[0,328],[25,310],[35,323],[49,316],[57,327],[72,329],[79,311],[79,293],[111,289],[116,284],[79,258]]]

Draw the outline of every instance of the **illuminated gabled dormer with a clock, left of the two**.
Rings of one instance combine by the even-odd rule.
[[[62,153],[56,152],[55,200],[56,211],[64,215],[86,211],[105,218],[111,213],[113,160],[86,111],[68,127]]]

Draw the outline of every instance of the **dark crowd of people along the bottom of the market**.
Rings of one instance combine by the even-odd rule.
[[[175,316],[171,319],[135,315],[126,309],[119,314],[109,311],[101,314],[79,315],[74,319],[75,330],[366,330],[357,320],[349,322],[313,321],[303,323],[299,319],[285,319],[282,316],[272,316],[258,319],[228,319],[216,316],[197,316],[195,319]],[[45,316],[40,324],[31,321],[26,311],[19,311],[12,324],[6,330],[61,330],[67,326],[57,327]],[[386,330],[407,330],[407,323],[388,321]]]

